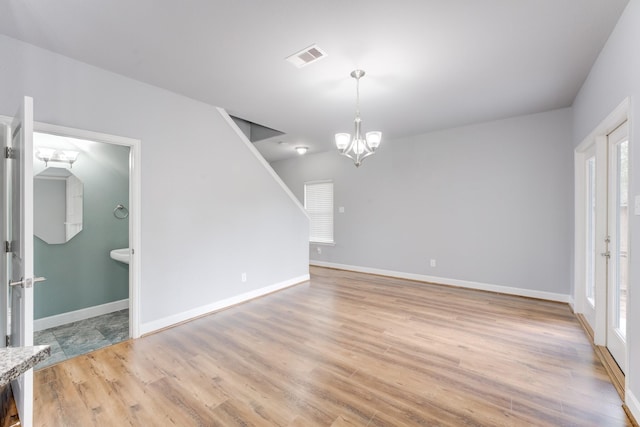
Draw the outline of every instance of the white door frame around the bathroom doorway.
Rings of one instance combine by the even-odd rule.
[[[0,123],[10,125],[11,117],[0,116]],[[130,147],[129,163],[129,247],[131,258],[129,262],[129,335],[131,338],[140,337],[140,260],[142,254],[141,245],[141,145],[139,139],[123,136],[109,135],[66,126],[52,125],[48,123],[34,122],[34,132],[49,133],[58,136],[66,136],[77,139],[102,142]]]

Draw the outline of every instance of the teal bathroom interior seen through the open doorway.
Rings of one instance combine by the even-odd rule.
[[[35,133],[34,156],[38,369],[130,336],[127,251],[111,254],[129,247],[130,147]]]

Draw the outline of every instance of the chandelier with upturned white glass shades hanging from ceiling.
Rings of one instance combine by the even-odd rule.
[[[340,151],[340,154],[347,156],[355,163],[356,167],[362,164],[362,161],[375,153],[376,148],[380,146],[382,141],[382,132],[372,131],[367,132],[364,138],[362,137],[362,119],[360,119],[360,78],[364,76],[363,70],[354,70],[351,72],[351,77],[356,79],[356,119],[355,134],[353,139],[348,133],[336,134],[336,147]]]

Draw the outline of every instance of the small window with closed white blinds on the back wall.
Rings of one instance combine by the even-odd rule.
[[[333,243],[333,182],[305,183],[304,208],[311,218],[309,241]]]

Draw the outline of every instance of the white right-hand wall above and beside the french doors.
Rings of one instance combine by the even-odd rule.
[[[631,98],[630,200],[640,195],[640,0],[631,0],[594,64],[573,105],[574,145],[594,130],[625,97]],[[640,420],[640,216],[630,217],[627,319],[627,404]]]

